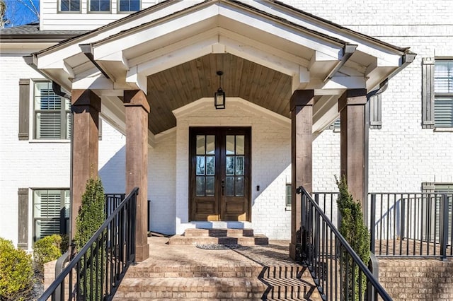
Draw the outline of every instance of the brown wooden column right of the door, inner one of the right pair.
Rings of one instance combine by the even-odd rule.
[[[296,259],[296,247],[301,243],[301,208],[297,201],[296,188],[303,186],[311,193],[313,163],[311,144],[313,119],[313,90],[296,90],[291,96],[291,243],[289,256]]]

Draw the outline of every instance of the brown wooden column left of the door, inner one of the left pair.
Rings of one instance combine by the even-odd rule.
[[[126,107],[126,193],[139,187],[135,230],[135,260],[149,257],[148,245],[148,114],[149,104],[142,90],[124,93]]]

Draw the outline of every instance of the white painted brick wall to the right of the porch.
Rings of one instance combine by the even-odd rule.
[[[369,191],[420,191],[422,182],[453,182],[453,133],[421,128],[421,59],[453,57],[453,1],[285,2],[417,53],[382,95],[382,129],[369,131]],[[339,136],[326,131],[314,141],[314,191],[336,189]]]

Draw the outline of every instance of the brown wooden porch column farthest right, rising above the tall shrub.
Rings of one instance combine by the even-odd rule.
[[[340,174],[346,176],[355,200],[367,199],[365,105],[367,90],[346,90],[338,99],[340,112]]]

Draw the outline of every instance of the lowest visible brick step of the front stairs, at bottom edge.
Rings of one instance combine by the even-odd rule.
[[[127,278],[113,300],[261,300],[266,288],[248,278]]]

